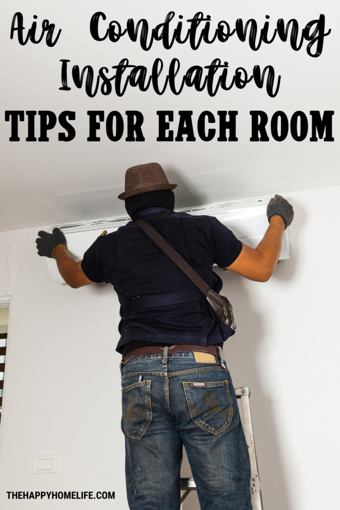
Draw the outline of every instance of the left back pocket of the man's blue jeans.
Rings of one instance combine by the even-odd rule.
[[[152,420],[151,381],[135,382],[122,389],[123,424],[126,435],[140,439]]]

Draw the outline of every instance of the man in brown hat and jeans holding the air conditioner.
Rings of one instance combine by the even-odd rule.
[[[202,510],[251,510],[248,448],[221,349],[234,330],[135,221],[149,223],[219,293],[214,263],[268,281],[294,212],[275,195],[268,230],[252,249],[214,217],[175,213],[175,187],[158,163],[129,168],[118,198],[131,222],[98,237],[82,262],[68,254],[59,228],[39,232],[38,254],[53,257],[72,288],[108,280],[118,294],[130,509],[179,509],[184,445]]]

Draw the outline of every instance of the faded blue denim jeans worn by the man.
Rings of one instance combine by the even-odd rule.
[[[183,445],[201,510],[251,510],[249,454],[229,371],[219,358],[196,363],[193,352],[167,351],[122,369],[130,510],[179,510]]]

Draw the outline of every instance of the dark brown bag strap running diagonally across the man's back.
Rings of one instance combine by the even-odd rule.
[[[152,241],[157,246],[159,246],[161,250],[167,254],[168,257],[170,257],[170,259],[179,267],[179,269],[181,269],[206,296],[208,291],[210,291],[210,287],[196,273],[196,271],[194,271],[194,269],[189,266],[189,264],[180,256],[180,254],[177,253],[177,251],[174,250],[172,246],[170,246],[170,244],[167,243],[166,240],[158,232],[156,232],[149,223],[142,220],[141,218],[136,220],[135,223],[137,223],[142,228],[145,234],[147,234],[152,239]]]

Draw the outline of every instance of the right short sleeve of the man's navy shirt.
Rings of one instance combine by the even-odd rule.
[[[215,264],[219,267],[228,267],[239,257],[242,251],[242,242],[214,216],[206,216],[214,239]]]

